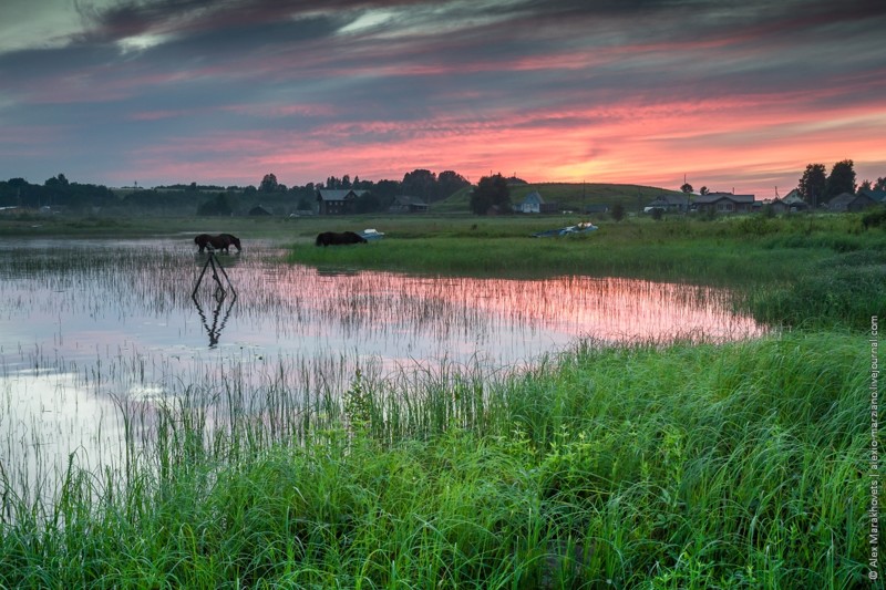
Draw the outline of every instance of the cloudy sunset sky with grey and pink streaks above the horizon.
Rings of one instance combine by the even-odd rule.
[[[0,180],[886,176],[875,0],[0,0]]]

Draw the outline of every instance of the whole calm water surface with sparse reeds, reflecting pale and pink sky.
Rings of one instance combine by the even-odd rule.
[[[227,292],[189,237],[6,240],[0,257],[0,463],[39,486],[76,451],[113,463],[120,407],[236,373],[260,386],[343,391],[353,369],[532,363],[604,342],[758,335],[729,293],[649,281],[324,272],[271,245],[219,255]],[[383,247],[373,244],[368,247]],[[195,291],[195,286],[196,291]],[[193,294],[193,297],[192,297]]]

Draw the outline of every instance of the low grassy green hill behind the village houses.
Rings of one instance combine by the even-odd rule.
[[[529,183],[514,184],[511,187],[511,201],[517,204],[533,190],[537,190],[545,203],[557,203],[560,210],[583,211],[586,206],[606,205],[611,208],[620,203],[627,211],[642,210],[656,197],[679,194],[653,186],[618,185],[605,183]],[[468,213],[471,190],[468,186],[453,193],[450,197],[431,205],[433,213]]]

